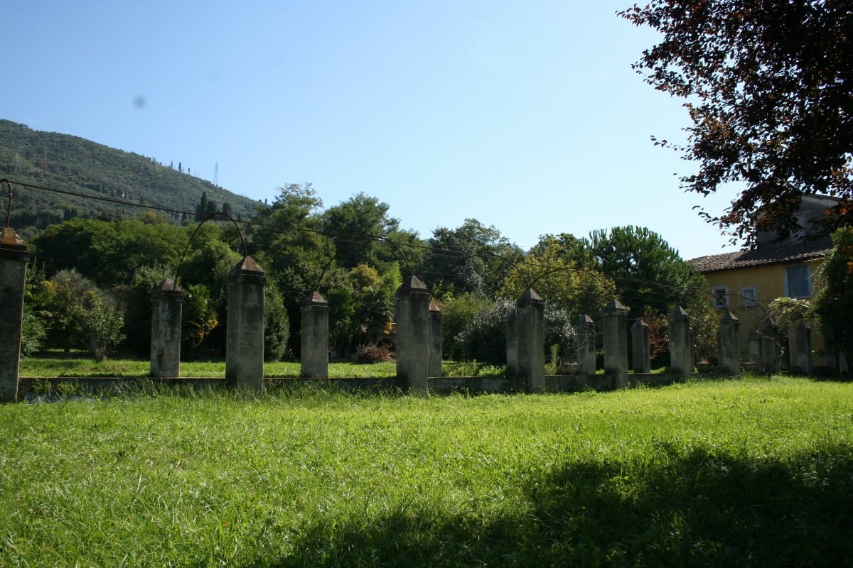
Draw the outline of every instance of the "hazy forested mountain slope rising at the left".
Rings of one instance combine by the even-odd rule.
[[[231,215],[247,218],[259,204],[171,165],[160,164],[156,158],[0,119],[0,179],[3,178],[190,213],[198,210],[205,194],[207,212],[211,207],[222,210],[224,204],[229,204],[226,210]],[[7,191],[3,184],[0,195]],[[118,219],[136,216],[142,211],[24,186],[13,186],[13,191],[11,224],[25,238],[73,217]],[[187,221],[181,214],[165,216],[171,223]]]

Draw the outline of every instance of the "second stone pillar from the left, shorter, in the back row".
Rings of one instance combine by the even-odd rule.
[[[181,376],[183,291],[165,278],[151,294],[151,378]]]

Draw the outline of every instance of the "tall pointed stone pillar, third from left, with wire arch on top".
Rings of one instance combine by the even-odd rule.
[[[264,390],[264,288],[266,276],[251,256],[228,278],[225,378],[229,385]]]

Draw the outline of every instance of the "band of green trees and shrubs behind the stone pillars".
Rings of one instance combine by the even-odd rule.
[[[595,316],[612,297],[629,308],[632,322],[646,318],[660,333],[671,307],[701,313],[709,305],[704,278],[646,228],[545,235],[524,251],[475,219],[423,239],[388,210],[363,192],[323,209],[310,184],[289,184],[273,204],[238,223],[239,232],[216,217],[179,227],[152,212],[51,225],[31,243],[26,347],[40,341],[87,348],[96,357],[111,349],[147,356],[151,293],[164,278],[177,278],[186,297],[184,355],[221,356],[226,282],[244,254],[268,278],[270,360],[299,357],[301,302],[313,290],[329,301],[337,356],[392,344],[394,294],[408,273],[442,308],[445,353],[496,364],[505,357],[502,318],[529,287],[547,301],[548,346],[563,358],[572,349],[573,321]]]

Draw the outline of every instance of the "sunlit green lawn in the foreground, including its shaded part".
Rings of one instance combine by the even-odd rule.
[[[853,383],[0,406],[0,565],[850,565]]]

